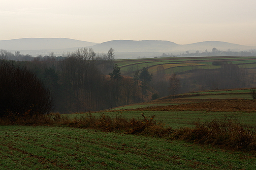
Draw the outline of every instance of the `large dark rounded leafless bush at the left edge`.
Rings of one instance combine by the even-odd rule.
[[[49,113],[53,106],[51,93],[35,73],[0,60],[0,117],[13,119]]]

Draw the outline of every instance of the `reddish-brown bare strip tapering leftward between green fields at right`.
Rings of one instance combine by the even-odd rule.
[[[169,106],[156,106],[131,109],[133,111],[167,111],[167,110],[191,110],[191,111],[219,111],[219,112],[256,112],[256,100],[220,100],[200,103],[188,103]]]

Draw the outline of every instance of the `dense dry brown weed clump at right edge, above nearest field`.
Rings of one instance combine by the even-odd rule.
[[[196,122],[194,128],[180,128],[172,134],[173,139],[198,144],[210,144],[235,150],[256,150],[255,128],[241,124],[234,118]]]

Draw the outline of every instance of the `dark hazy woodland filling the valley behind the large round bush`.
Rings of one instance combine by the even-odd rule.
[[[112,48],[108,53],[82,48],[58,57],[54,53],[32,57],[0,50],[1,60],[16,60],[15,65],[27,68],[44,82],[54,98],[54,111],[60,113],[103,110],[168,95],[243,88],[254,83],[245,69],[231,62],[213,63],[221,65],[220,69],[171,75],[165,73],[162,65],[154,74],[145,67],[124,74],[114,56]]]

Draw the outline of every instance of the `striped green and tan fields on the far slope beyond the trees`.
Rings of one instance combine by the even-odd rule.
[[[169,57],[169,58],[149,58],[149,59],[131,59],[116,60],[116,64],[121,67],[121,73],[128,71],[129,67],[142,69],[149,67],[150,73],[155,73],[156,68],[162,65],[166,73],[180,73],[194,69],[216,69],[220,66],[213,66],[212,62],[232,62],[243,68],[255,68],[256,57]],[[251,63],[251,64],[250,64]],[[200,66],[203,65],[203,66]]]

